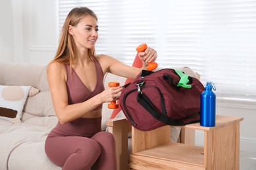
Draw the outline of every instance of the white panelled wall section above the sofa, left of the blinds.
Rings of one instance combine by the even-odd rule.
[[[0,61],[47,64],[53,59],[55,4],[53,0],[0,1]]]

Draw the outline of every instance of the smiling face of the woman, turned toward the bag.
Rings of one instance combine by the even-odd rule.
[[[73,36],[77,48],[95,47],[98,39],[98,25],[93,16],[84,16],[77,25],[70,25],[68,31]]]

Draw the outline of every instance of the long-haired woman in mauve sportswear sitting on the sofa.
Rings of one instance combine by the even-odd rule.
[[[98,25],[95,13],[85,7],[68,14],[56,56],[48,66],[48,81],[58,124],[45,141],[45,152],[63,169],[116,169],[115,141],[101,131],[102,103],[119,98],[121,87],[104,90],[106,73],[135,78],[156,51],[140,52],[137,69],[106,55],[95,56]]]

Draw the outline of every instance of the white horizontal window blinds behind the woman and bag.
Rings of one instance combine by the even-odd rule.
[[[57,1],[58,31],[74,7],[98,16],[97,54],[131,65],[142,42],[160,67],[188,66],[219,101],[256,103],[256,0]]]

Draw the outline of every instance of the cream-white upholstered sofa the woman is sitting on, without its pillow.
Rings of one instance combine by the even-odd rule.
[[[26,99],[20,123],[12,123],[0,118],[1,170],[61,169],[61,167],[54,165],[47,158],[44,150],[47,134],[58,121],[51,101],[46,67],[46,65],[35,63],[0,62],[0,85],[32,86],[39,90],[39,93],[28,96]],[[120,84],[123,85],[125,78],[107,74],[104,80],[106,88],[110,81],[120,82]],[[106,129],[106,120],[110,118],[110,114],[112,113],[112,110],[108,109],[107,104],[108,103],[104,103],[102,110],[103,130]],[[117,116],[122,117],[123,114],[120,113]],[[173,140],[177,140],[179,131],[176,134],[177,135],[173,135],[173,138],[176,138]],[[117,143],[121,142],[117,141]],[[122,151],[119,150],[117,152],[120,153]],[[122,158],[123,157],[119,159]]]

